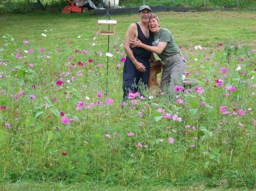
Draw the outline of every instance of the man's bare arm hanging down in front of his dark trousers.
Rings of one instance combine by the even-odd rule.
[[[129,40],[133,40],[137,36],[136,33],[137,33],[137,26],[135,23],[132,23],[126,31],[125,44],[123,45],[123,49],[125,50],[127,57],[131,60],[131,62],[133,62],[137,70],[140,72],[145,72],[146,67],[141,62],[138,62],[136,60],[136,58],[133,55],[133,51],[131,51],[131,48],[130,48],[131,44],[129,43]]]

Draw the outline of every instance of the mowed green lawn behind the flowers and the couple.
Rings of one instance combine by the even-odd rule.
[[[177,45],[256,44],[255,12],[159,12],[158,15],[160,26],[170,29]],[[56,41],[72,39],[86,44],[97,32],[97,20],[102,17],[88,14],[0,15],[0,35],[7,32],[16,41],[38,39],[36,43],[40,44],[43,39],[38,37],[43,30],[53,29]],[[138,15],[112,15],[112,19],[117,20],[117,36],[114,39],[119,37],[123,41],[127,27],[138,21]],[[79,35],[84,38],[77,39]]]

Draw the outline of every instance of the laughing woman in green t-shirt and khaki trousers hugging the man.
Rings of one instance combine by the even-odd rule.
[[[141,47],[158,54],[163,63],[161,91],[173,92],[175,86],[182,84],[182,75],[185,75],[185,60],[177,48],[172,33],[160,27],[157,15],[151,14],[148,28],[154,33],[152,46],[143,44],[138,39],[130,40],[129,43],[132,47]]]

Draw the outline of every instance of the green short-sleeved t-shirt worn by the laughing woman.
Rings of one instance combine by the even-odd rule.
[[[167,42],[162,54],[158,54],[162,60],[180,52],[175,43],[174,36],[166,28],[160,28],[160,31],[154,34],[152,45],[157,46],[159,42]]]

